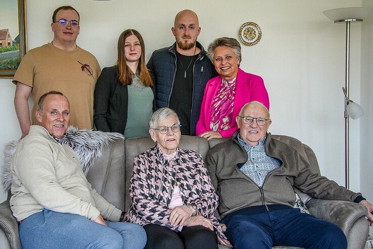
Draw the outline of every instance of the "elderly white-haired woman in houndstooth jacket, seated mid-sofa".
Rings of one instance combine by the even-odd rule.
[[[178,148],[176,112],[157,110],[149,127],[157,144],[134,158],[125,220],[144,227],[145,248],[217,248],[218,240],[229,245],[214,216],[218,197],[201,155]]]

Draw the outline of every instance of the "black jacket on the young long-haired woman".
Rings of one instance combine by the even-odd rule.
[[[124,134],[127,123],[128,88],[122,85],[116,66],[105,67],[96,82],[94,121],[98,131]]]

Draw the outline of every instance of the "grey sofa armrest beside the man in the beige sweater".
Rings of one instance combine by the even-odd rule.
[[[11,248],[21,248],[21,241],[19,240],[18,222],[14,218],[12,210],[10,209],[9,200],[0,204],[0,228],[4,231],[8,238]]]

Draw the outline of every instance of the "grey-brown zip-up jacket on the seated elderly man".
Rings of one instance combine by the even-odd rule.
[[[292,137],[270,133],[265,141],[266,153],[281,160],[282,165],[269,172],[260,188],[240,171],[248,158],[237,141],[238,132],[214,146],[206,156],[206,167],[219,195],[221,218],[254,205],[293,206],[296,199],[293,186],[319,199],[353,201],[361,195],[321,176],[315,154],[307,145]]]

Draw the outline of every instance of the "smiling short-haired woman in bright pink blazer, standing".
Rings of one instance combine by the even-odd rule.
[[[245,103],[256,100],[269,109],[267,90],[260,76],[240,69],[241,46],[235,38],[215,39],[207,55],[219,76],[206,84],[196,134],[207,140],[230,137]]]

